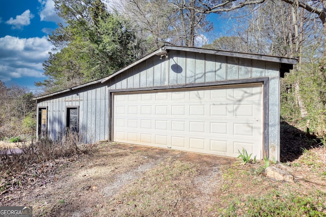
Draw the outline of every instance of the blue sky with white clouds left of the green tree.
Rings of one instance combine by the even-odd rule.
[[[0,80],[30,88],[45,79],[42,64],[53,47],[48,34],[62,22],[52,0],[2,1]]]

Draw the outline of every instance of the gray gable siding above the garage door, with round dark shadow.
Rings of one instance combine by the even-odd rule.
[[[266,68],[266,63],[273,66]],[[107,83],[109,89],[132,89],[269,77],[271,74],[279,77],[279,67],[278,63],[262,60],[171,50],[168,59],[154,56]]]

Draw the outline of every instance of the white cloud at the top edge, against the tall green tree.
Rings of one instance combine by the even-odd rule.
[[[64,23],[64,19],[58,16],[55,3],[52,0],[39,0],[39,3],[41,3],[41,10],[39,13],[41,21]]]

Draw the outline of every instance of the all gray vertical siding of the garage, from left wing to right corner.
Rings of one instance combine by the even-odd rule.
[[[108,139],[110,126],[109,91],[132,91],[142,89],[180,88],[182,85],[196,84],[208,86],[210,83],[241,79],[266,78],[269,82],[268,132],[269,154],[278,159],[280,152],[279,105],[280,105],[280,63],[234,56],[169,50],[168,58],[153,55],[139,64],[120,71],[103,83],[90,84],[62,94],[38,101],[38,107],[48,109],[48,135],[58,138],[66,127],[67,106],[79,106],[79,132],[85,142]],[[231,84],[231,82],[230,82]],[[234,84],[234,83],[233,83]]]

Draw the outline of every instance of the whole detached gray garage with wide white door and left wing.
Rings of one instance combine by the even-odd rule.
[[[118,72],[36,98],[38,136],[280,159],[280,77],[296,59],[165,46]]]

